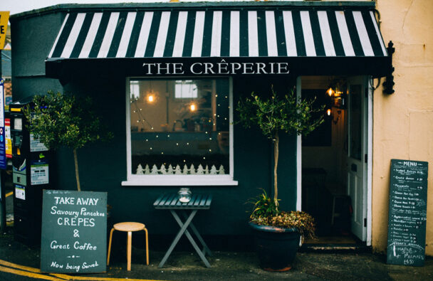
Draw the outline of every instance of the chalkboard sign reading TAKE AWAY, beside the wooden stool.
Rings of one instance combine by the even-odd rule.
[[[41,271],[105,272],[107,193],[44,190]]]

